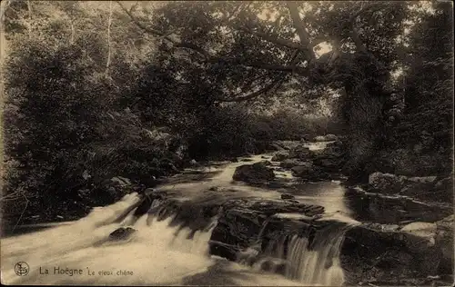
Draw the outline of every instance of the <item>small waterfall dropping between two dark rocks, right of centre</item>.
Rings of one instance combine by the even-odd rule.
[[[268,242],[255,269],[280,272],[306,286],[340,286],[345,282],[339,253],[344,235],[355,223],[320,221],[306,233],[282,234]]]

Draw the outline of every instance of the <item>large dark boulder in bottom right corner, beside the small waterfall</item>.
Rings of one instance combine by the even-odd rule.
[[[453,254],[449,237],[445,236],[443,244],[448,258],[450,249]],[[417,277],[425,280],[442,274],[444,256],[437,239],[437,223],[410,223],[401,229],[383,224],[356,226],[346,233],[341,250],[347,283],[402,285]]]

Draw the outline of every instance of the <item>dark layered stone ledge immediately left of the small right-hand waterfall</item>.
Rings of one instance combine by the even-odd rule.
[[[316,214],[324,213],[324,207],[280,200],[229,200],[223,204],[210,238],[210,253],[238,260],[238,256],[233,256],[238,251],[246,252],[248,248],[260,251],[264,241],[276,235],[303,232],[309,227],[309,223],[274,216],[277,213],[305,214],[311,221]]]

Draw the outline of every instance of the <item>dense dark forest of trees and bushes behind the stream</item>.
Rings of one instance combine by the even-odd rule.
[[[351,183],[452,176],[452,9],[2,1],[3,220],[77,219],[125,195],[112,177],[154,187],[326,134]]]

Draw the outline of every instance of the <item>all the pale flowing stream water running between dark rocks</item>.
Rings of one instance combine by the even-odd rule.
[[[318,149],[320,146],[310,146]],[[270,158],[267,154],[266,158]],[[264,159],[252,156],[251,163]],[[206,168],[197,181],[177,176],[159,189],[181,201],[216,198],[278,200],[277,190],[232,182],[235,169],[244,162]],[[200,172],[200,171],[199,171]],[[208,175],[207,175],[208,174]],[[206,176],[207,175],[207,176]],[[302,203],[323,205],[326,215],[310,233],[285,233],[268,242],[252,266],[210,256],[209,240],[217,216],[205,229],[170,224],[173,216],[158,221],[151,213],[134,215],[141,197],[126,195],[121,201],[98,207],[86,218],[35,233],[3,238],[1,242],[2,283],[81,285],[341,285],[344,282],[339,252],[344,234],[357,222],[343,199],[339,183],[296,182],[290,173],[277,173],[293,187]],[[182,179],[183,178],[183,179]],[[213,187],[221,190],[212,190]],[[204,191],[204,193],[201,193]],[[161,208],[152,203],[151,210]],[[161,207],[160,207],[161,206]],[[299,220],[298,214],[276,214],[275,218]],[[258,234],[260,240],[267,220]],[[119,227],[136,230],[127,240],[108,240]],[[29,273],[18,276],[16,262],[26,262]]]

